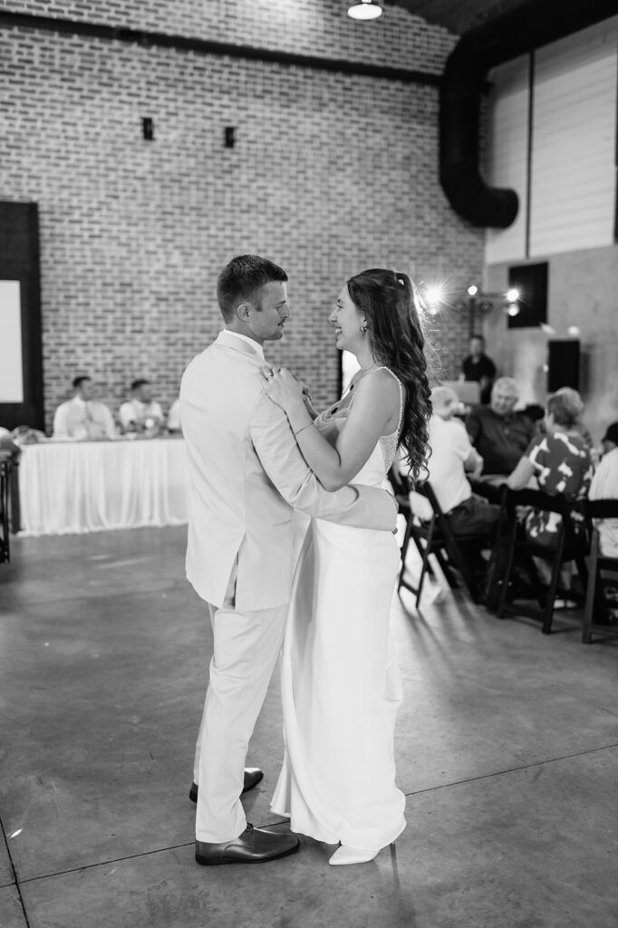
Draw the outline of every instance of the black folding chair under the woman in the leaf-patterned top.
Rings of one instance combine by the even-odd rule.
[[[554,601],[560,581],[560,567],[563,563],[575,561],[582,586],[586,589],[587,535],[585,532],[579,534],[575,532],[571,515],[573,501],[569,501],[566,496],[552,495],[541,490],[507,490],[505,506],[509,528],[506,538],[503,535],[506,550],[502,552],[502,561],[505,566],[497,606],[498,618],[503,618],[507,612],[540,619],[543,624],[543,634],[549,635],[554,614]],[[549,547],[527,535],[524,522],[518,519],[518,510],[521,507],[528,511],[535,509],[538,512],[546,514],[553,512],[560,516],[554,545]],[[541,584],[533,558],[547,561],[550,568],[548,587]],[[516,603],[517,585],[511,583],[516,563],[520,564],[528,575],[530,586],[538,602],[537,609],[534,606],[521,605],[521,602]],[[509,591],[511,595],[507,601]]]

